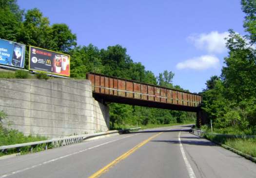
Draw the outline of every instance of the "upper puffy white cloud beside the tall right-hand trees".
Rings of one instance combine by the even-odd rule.
[[[226,49],[225,37],[228,37],[229,32],[217,32],[193,34],[188,37],[197,49],[206,50],[209,53],[222,53]]]

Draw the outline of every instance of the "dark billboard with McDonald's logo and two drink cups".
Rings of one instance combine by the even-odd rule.
[[[29,47],[29,70],[70,76],[70,56],[51,50]]]

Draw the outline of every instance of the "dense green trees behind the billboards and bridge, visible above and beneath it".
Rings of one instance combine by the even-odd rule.
[[[155,76],[141,63],[135,63],[120,45],[98,49],[92,44],[77,46],[76,34],[66,24],[52,24],[39,9],[20,10],[16,0],[0,0],[0,38],[13,40],[25,45],[51,49],[71,55],[71,77],[85,79],[87,72],[102,73],[110,76],[158,84],[182,90],[173,86],[174,73],[164,71]],[[26,53],[25,68],[28,68]],[[10,74],[9,74],[10,75]],[[22,75],[19,74],[22,78]],[[42,78],[42,74],[37,74]],[[43,78],[44,79],[44,78]],[[112,126],[135,124],[170,124],[195,121],[195,113],[177,112],[109,103]]]

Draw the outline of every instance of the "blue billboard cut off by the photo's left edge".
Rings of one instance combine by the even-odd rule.
[[[25,45],[0,39],[0,64],[24,68]]]

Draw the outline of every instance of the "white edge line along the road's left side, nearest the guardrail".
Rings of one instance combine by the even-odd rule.
[[[55,161],[60,160],[60,159],[62,159],[62,158],[66,158],[66,157],[69,157],[69,156],[72,156],[72,155],[76,155],[76,154],[78,154],[78,153],[81,153],[81,152],[84,152],[84,151],[87,151],[87,150],[90,150],[90,149],[93,149],[93,148],[97,148],[97,147],[99,147],[99,146],[103,146],[103,145],[106,145],[106,144],[110,144],[110,143],[112,143],[112,142],[116,142],[116,141],[118,141],[118,140],[125,139],[125,138],[131,137],[131,136],[134,136],[134,135],[138,135],[138,134],[139,134],[139,133],[133,134],[133,135],[129,135],[129,136],[126,136],[126,137],[123,137],[123,138],[118,138],[118,139],[115,139],[115,140],[112,140],[112,141],[109,141],[109,142],[105,142],[105,143],[103,143],[103,144],[99,144],[99,145],[97,145],[97,146],[92,146],[92,147],[89,147],[89,148],[85,148],[85,149],[82,149],[82,150],[79,150],[79,151],[70,153],[70,154],[68,154],[68,155],[60,156],[60,157],[58,157],[58,158],[55,158],[55,159],[52,159],[52,160],[49,160],[49,161],[46,161],[46,162],[42,162],[42,163],[39,163],[39,164],[35,164],[35,165],[31,166],[31,167],[27,167],[27,168],[24,168],[24,169],[20,169],[20,170],[17,170],[17,171],[13,171],[13,172],[8,173],[8,174],[0,175],[0,178],[6,178],[6,177],[8,177],[8,176],[11,176],[11,175],[14,175],[14,174],[17,174],[17,173],[20,173],[20,172],[24,172],[24,171],[29,170],[29,169],[33,169],[33,168],[35,168],[35,167],[39,167],[39,166],[41,166],[41,165],[43,165],[43,164],[47,164],[47,163],[49,163],[49,162],[55,162]]]

